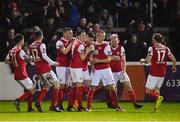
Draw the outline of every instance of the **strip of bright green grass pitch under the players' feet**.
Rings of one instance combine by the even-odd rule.
[[[180,121],[180,103],[162,103],[159,113],[153,113],[154,103],[142,104],[142,109],[135,110],[131,103],[122,102],[126,112],[116,112],[107,109],[104,102],[94,102],[91,112],[56,113],[48,111],[49,102],[45,102],[44,113],[27,113],[26,103],[21,103],[21,112],[16,112],[11,102],[0,102],[0,121]]]

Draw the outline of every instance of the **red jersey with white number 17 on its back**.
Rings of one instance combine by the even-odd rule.
[[[167,58],[171,55],[169,48],[162,44],[153,45],[149,47],[148,53],[152,56],[150,75],[164,77],[166,75]]]

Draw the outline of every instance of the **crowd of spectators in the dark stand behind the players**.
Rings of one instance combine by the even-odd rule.
[[[170,3],[170,0],[154,0],[155,26],[172,23],[170,20],[174,16],[168,18],[171,15],[168,10],[173,8]],[[125,27],[126,32],[118,34],[126,49],[127,60],[138,61],[146,55],[151,45],[153,27],[149,4],[149,0],[1,0],[0,61],[12,48],[16,33],[25,35],[28,46],[33,41],[34,31],[39,29],[43,30],[48,55],[55,59],[55,42],[66,26],[72,27],[74,32],[83,29],[94,33],[101,29]],[[167,14],[160,16],[164,12]],[[111,31],[106,34],[108,41]]]

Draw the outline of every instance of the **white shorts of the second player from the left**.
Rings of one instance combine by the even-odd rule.
[[[56,74],[51,70],[50,72],[44,73],[41,75],[44,80],[52,83],[52,82],[58,82]]]

